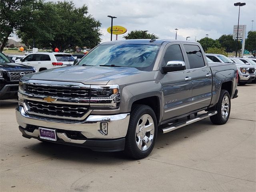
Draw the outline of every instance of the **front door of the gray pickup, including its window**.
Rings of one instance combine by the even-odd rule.
[[[166,46],[161,64],[162,66],[166,66],[168,61],[174,60],[184,61],[186,69],[188,69],[179,43],[170,43]],[[189,70],[174,71],[164,74],[162,78],[164,94],[163,120],[168,120],[188,112],[186,111],[186,104],[190,102],[192,94],[192,81],[189,79],[186,80],[189,76],[191,76]]]

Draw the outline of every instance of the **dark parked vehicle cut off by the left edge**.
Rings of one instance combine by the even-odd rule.
[[[0,100],[18,98],[20,78],[34,72],[33,67],[15,64],[0,52]]]

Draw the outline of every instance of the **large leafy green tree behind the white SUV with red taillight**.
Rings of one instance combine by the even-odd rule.
[[[76,8],[73,2],[40,2],[32,13],[29,25],[18,31],[23,42],[38,48],[75,49],[75,46],[93,48],[100,43],[97,27],[100,21],[88,15],[88,7]]]

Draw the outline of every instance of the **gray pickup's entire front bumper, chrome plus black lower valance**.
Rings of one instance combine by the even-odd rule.
[[[100,150],[97,142],[102,143],[100,151],[118,151],[124,149],[125,136],[128,130],[130,114],[116,115],[89,115],[83,122],[57,122],[44,117],[32,116],[25,112],[23,106],[16,107],[16,120],[19,124],[22,135],[26,138],[39,138],[38,127],[55,129],[57,132],[57,143],[84,146],[92,150]],[[108,122],[108,134],[100,131],[100,123]],[[32,127],[32,130],[31,130]],[[82,135],[79,139],[68,137],[68,133],[76,132]],[[47,140],[48,141],[48,140]],[[106,143],[111,143],[110,148],[106,150]],[[113,148],[113,143],[117,146]],[[122,143],[123,146],[120,146]],[[94,146],[95,144],[95,146]],[[95,149],[96,147],[96,149]]]

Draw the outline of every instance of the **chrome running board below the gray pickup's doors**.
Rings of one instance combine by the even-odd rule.
[[[168,126],[166,128],[162,128],[161,130],[162,130],[163,133],[168,133],[170,131],[176,130],[178,128],[184,127],[186,125],[192,124],[194,122],[200,121],[202,119],[205,119],[207,117],[210,117],[210,116],[213,116],[213,115],[216,115],[216,114],[217,114],[217,111],[210,111],[210,112],[207,112],[207,113],[204,113],[204,114],[199,114],[193,119],[189,119],[189,120],[181,121],[181,122],[177,122],[177,123],[170,123],[170,124],[168,124],[170,126]]]

